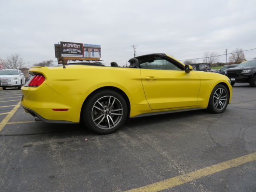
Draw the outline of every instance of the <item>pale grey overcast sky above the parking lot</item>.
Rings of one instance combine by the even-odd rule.
[[[256,48],[255,8],[255,0],[2,0],[0,58],[19,53],[30,66],[56,60],[60,41],[101,45],[106,65],[126,64],[133,44],[137,56],[180,60],[247,50]],[[244,53],[256,57],[256,50]]]

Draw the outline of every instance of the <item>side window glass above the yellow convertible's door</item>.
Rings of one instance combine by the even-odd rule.
[[[162,58],[155,58],[152,61],[144,62],[140,64],[145,69],[158,69],[158,70],[181,70],[173,63],[164,60]]]

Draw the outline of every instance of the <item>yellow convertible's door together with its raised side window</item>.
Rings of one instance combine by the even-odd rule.
[[[152,110],[196,105],[200,90],[200,78],[196,72],[187,73],[183,66],[177,66],[177,62],[163,58],[140,65],[142,85]]]

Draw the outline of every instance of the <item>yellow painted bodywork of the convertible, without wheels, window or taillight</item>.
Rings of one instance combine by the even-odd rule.
[[[45,80],[38,87],[23,86],[21,104],[46,120],[80,122],[86,98],[101,88],[122,91],[129,100],[130,117],[153,112],[207,108],[210,94],[219,83],[227,86],[229,102],[232,97],[229,79],[210,72],[86,65],[66,65],[66,68],[32,67],[29,71],[43,74]],[[146,77],[157,77],[157,80],[146,80]]]

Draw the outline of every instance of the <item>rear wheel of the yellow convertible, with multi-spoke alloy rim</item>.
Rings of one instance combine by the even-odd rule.
[[[110,134],[126,121],[128,107],[124,98],[112,90],[96,92],[84,106],[85,125],[98,134]]]

